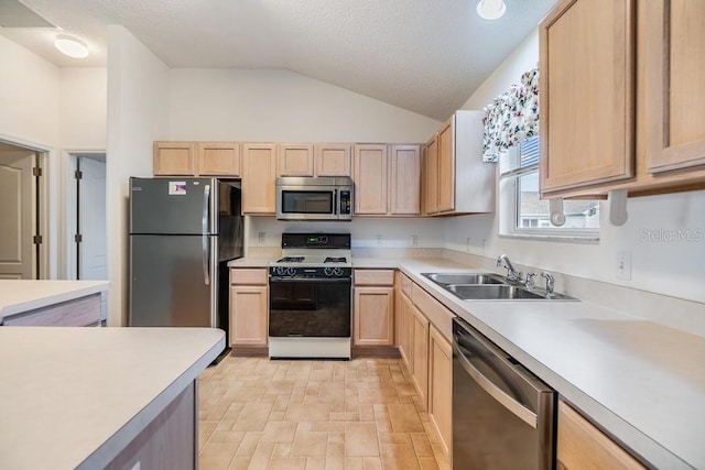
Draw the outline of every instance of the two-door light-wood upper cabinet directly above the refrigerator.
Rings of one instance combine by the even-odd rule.
[[[240,176],[237,142],[154,142],[154,176]]]

